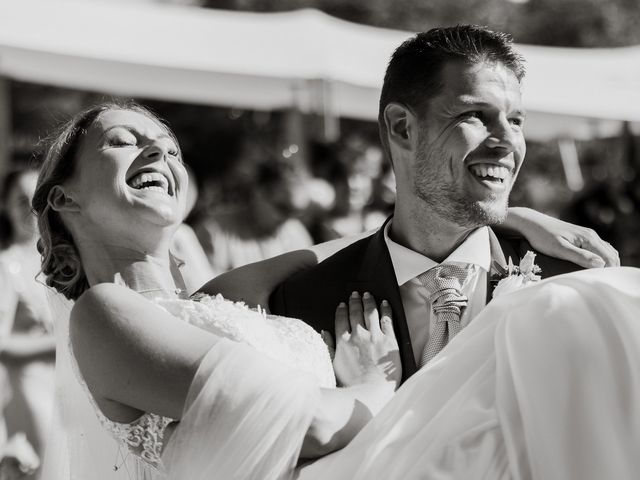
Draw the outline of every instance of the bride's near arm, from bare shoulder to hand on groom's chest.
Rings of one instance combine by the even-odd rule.
[[[354,301],[350,300],[350,307]],[[372,300],[367,302],[366,312],[370,316],[375,304],[371,307]],[[395,342],[390,320],[383,323],[384,327],[378,324],[375,330],[371,327],[375,322],[365,325],[362,306],[359,311],[353,308],[354,318],[359,315],[360,324],[354,327],[352,321],[352,331],[359,333],[340,337],[346,343],[338,342],[337,357],[368,349],[369,356],[360,355],[368,360],[351,364],[350,368],[356,369],[348,376],[352,386],[317,389],[320,400],[310,412],[312,418],[302,445],[305,457],[316,457],[344,446],[386,403],[399,379],[398,369],[388,365]],[[344,311],[342,315],[344,325]],[[346,327],[341,329],[346,331]],[[375,331],[375,335],[367,336],[370,331]],[[80,372],[98,406],[112,421],[125,423],[142,412],[181,419],[202,359],[221,341],[212,333],[173,317],[137,293],[113,284],[96,285],[78,299],[71,312],[70,336]],[[250,355],[254,362],[271,362],[257,351],[250,351]],[[376,361],[380,364],[375,364]],[[282,368],[273,372],[274,377],[281,378]],[[389,371],[393,373],[388,374]],[[262,382],[255,388],[271,383],[268,379]],[[256,398],[260,394],[253,392]],[[282,397],[286,397],[284,392]],[[212,395],[209,401],[215,411],[217,397]],[[307,403],[302,405],[308,408]]]

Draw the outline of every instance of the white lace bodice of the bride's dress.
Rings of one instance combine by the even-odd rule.
[[[300,320],[267,315],[243,303],[197,294],[192,299],[156,299],[166,311],[198,328],[221,337],[246,343],[283,367],[303,370],[321,387],[335,387],[329,352],[320,335]],[[141,458],[154,470],[160,468],[164,434],[171,418],[146,413],[125,424],[106,418],[91,398],[103,427],[121,446]]]

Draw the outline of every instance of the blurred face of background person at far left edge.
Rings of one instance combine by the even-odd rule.
[[[34,238],[36,235],[37,220],[31,211],[31,200],[37,181],[38,173],[27,170],[18,176],[7,193],[7,215],[16,241]]]

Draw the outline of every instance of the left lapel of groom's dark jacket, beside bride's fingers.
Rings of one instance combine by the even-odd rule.
[[[376,301],[387,300],[391,305],[393,326],[402,360],[402,381],[404,382],[417,371],[417,365],[413,356],[413,347],[402,306],[398,280],[387,244],[384,241],[384,229],[389,220],[390,218],[378,232],[370,237],[362,263],[347,285],[350,290],[357,290],[361,293],[368,291]]]

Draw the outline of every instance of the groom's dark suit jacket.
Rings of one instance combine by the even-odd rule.
[[[487,275],[487,302],[499,280],[497,265],[506,266],[505,259],[509,257],[517,265],[527,250],[533,250],[523,238],[496,236],[493,231],[490,238],[492,271]],[[542,269],[543,278],[581,268],[542,254],[536,256],[536,264]],[[417,366],[398,281],[384,241],[384,226],[315,267],[287,279],[271,295],[269,307],[273,313],[300,318],[318,331],[333,333],[335,309],[340,302],[346,302],[354,290],[370,292],[378,302],[387,300],[391,304],[404,382],[415,373]]]

